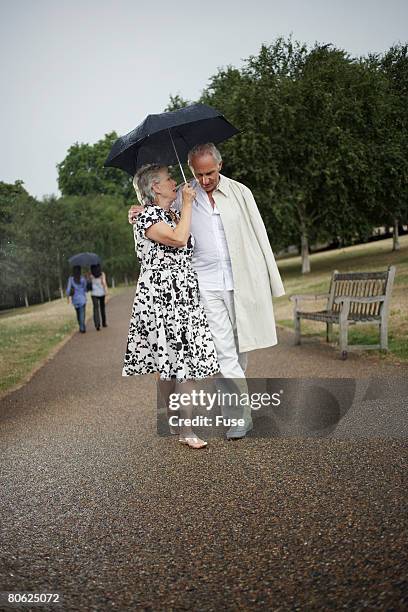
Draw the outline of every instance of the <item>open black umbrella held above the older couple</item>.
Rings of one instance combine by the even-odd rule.
[[[134,176],[144,164],[170,166],[197,144],[222,142],[238,134],[220,112],[206,104],[191,104],[168,113],[148,115],[134,130],[118,138],[105,161],[105,166],[121,168]]]

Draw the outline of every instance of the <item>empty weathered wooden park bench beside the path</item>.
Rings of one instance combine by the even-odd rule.
[[[326,340],[330,342],[333,323],[340,326],[340,352],[347,358],[348,350],[388,350],[388,314],[395,266],[385,272],[338,272],[332,275],[330,290],[321,295],[292,295],[294,302],[295,344],[300,344],[300,321],[322,321],[326,323]],[[303,300],[327,298],[326,308],[314,312],[299,309]],[[379,325],[380,344],[348,346],[349,325],[376,323]]]

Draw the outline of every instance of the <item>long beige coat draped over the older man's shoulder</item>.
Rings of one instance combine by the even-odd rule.
[[[274,346],[272,296],[285,295],[285,289],[254,196],[221,175],[213,197],[231,257],[239,351]]]

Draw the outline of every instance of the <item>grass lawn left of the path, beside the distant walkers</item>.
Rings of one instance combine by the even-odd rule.
[[[124,289],[125,286],[110,289],[109,295]],[[90,300],[86,314],[89,323]],[[0,394],[29,376],[76,329],[75,310],[66,298],[0,313]]]

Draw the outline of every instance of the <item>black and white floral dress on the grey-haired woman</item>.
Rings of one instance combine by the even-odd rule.
[[[146,206],[134,225],[141,269],[122,375],[158,372],[162,380],[178,382],[206,378],[219,372],[219,365],[191,267],[194,238],[178,248],[149,240],[145,231],[159,221],[176,227],[157,205]]]

